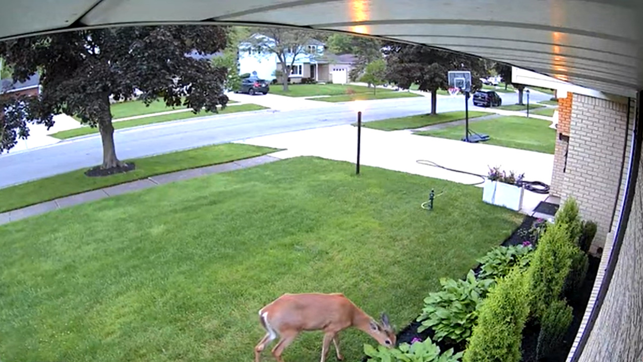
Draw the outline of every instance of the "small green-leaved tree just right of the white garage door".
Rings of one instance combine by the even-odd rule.
[[[350,79],[354,80],[363,75],[367,64],[382,58],[382,42],[369,37],[334,33],[328,37],[327,46],[331,53],[355,55],[356,60],[349,73]]]

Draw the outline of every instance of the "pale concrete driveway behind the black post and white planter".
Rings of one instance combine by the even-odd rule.
[[[350,125],[309,129],[248,138],[237,143],[281,148],[271,155],[276,158],[316,156],[331,160],[356,162],[357,128]],[[458,140],[412,135],[408,130],[379,131],[361,129],[361,160],[365,166],[381,167],[458,182],[476,184],[478,176],[448,171],[440,167],[419,164],[428,160],[440,166],[487,175],[489,167],[500,166],[506,171],[524,173],[525,180],[550,184],[554,155],[509,149],[489,144],[469,144]],[[477,185],[482,187],[482,185]],[[431,188],[427,180],[427,189]],[[438,190],[437,190],[438,191]],[[548,195],[525,191],[521,213],[532,214],[539,202]],[[482,193],[480,194],[482,198]]]

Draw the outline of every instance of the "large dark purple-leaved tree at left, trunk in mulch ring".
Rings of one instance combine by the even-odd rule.
[[[14,81],[25,81],[40,71],[42,85],[39,97],[3,98],[0,151],[11,148],[16,136],[28,135],[27,122],[51,127],[53,115],[65,113],[98,126],[102,169],[124,166],[114,148],[110,98],[131,99],[138,90],[145,104],[160,97],[168,106],[183,104],[195,113],[226,106],[228,97],[222,91],[226,70],[188,54],[221,50],[227,31],[217,26],[140,26],[0,43],[0,56],[12,64]]]

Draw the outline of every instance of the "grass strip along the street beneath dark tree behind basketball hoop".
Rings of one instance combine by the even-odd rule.
[[[469,111],[469,119],[493,115],[489,112]],[[410,117],[373,120],[371,122],[364,122],[362,126],[366,128],[381,129],[382,131],[397,131],[398,129],[413,129],[430,126],[431,124],[439,124],[446,122],[453,122],[455,120],[464,119],[464,111],[452,111],[438,113],[437,115],[416,115]]]

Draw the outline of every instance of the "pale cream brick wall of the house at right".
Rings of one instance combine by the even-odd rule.
[[[574,196],[579,204],[581,216],[598,225],[592,252],[603,247],[612,225],[618,222],[622,191],[628,173],[629,144],[635,113],[633,103],[632,101],[630,110],[628,150],[623,160],[628,105],[577,94],[574,94],[572,101],[566,172],[563,174],[562,182],[552,182],[553,192],[559,193],[563,201],[569,196]],[[619,185],[622,162],[625,164]],[[621,192],[617,196],[619,189]],[[617,199],[619,204],[612,221]]]

